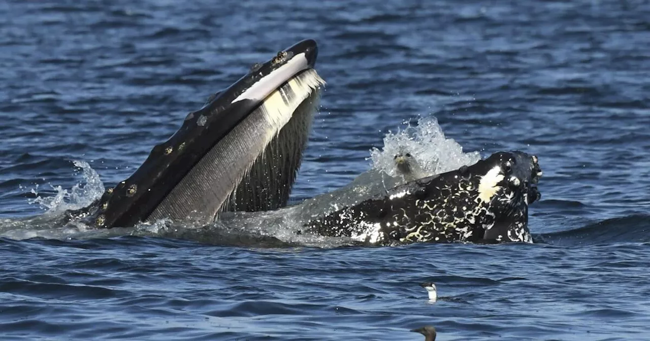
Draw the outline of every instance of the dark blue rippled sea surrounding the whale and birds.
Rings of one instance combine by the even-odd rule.
[[[435,118],[538,155],[537,243],[47,233],[305,38],[328,85],[292,203]],[[650,340],[648,1],[3,0],[0,70],[1,340]]]

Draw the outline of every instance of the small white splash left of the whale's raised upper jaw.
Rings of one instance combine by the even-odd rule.
[[[83,183],[72,186],[70,192],[61,186],[52,186],[50,184],[51,188],[57,192],[55,196],[51,197],[38,196],[38,186],[36,186],[36,188],[32,188],[31,190],[36,198],[29,200],[29,203],[38,204],[46,210],[46,213],[55,214],[64,210],[75,210],[86,207],[96,199],[99,199],[104,192],[104,184],[99,179],[99,174],[90,167],[88,162],[74,160],[72,163],[81,169]],[[75,173],[78,174],[79,170]]]

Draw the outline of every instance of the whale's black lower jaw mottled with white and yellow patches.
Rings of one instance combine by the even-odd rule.
[[[532,242],[528,205],[540,197],[539,177],[536,157],[501,151],[472,166],[396,186],[305,227],[372,245]]]

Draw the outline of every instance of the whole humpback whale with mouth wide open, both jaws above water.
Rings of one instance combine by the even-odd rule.
[[[190,112],[129,178],[88,207],[66,212],[64,220],[103,229],[161,219],[206,225],[227,211],[285,207],[325,84],[314,69],[317,53],[313,40],[303,40],[255,64]],[[411,166],[397,158],[397,167]],[[300,214],[298,221],[306,223],[295,233],[349,237],[363,245],[532,242],[528,205],[541,197],[536,156],[500,151],[446,173],[410,173],[401,184],[379,174],[383,190],[363,186],[358,201],[322,195],[337,197],[333,211],[322,212],[319,200],[305,201],[298,208],[309,214]],[[314,216],[312,207],[321,213]]]

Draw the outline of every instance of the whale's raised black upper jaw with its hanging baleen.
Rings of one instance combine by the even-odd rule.
[[[280,51],[190,112],[125,181],[69,212],[96,228],[169,218],[210,223],[227,210],[287,204],[325,82],[314,40]]]

